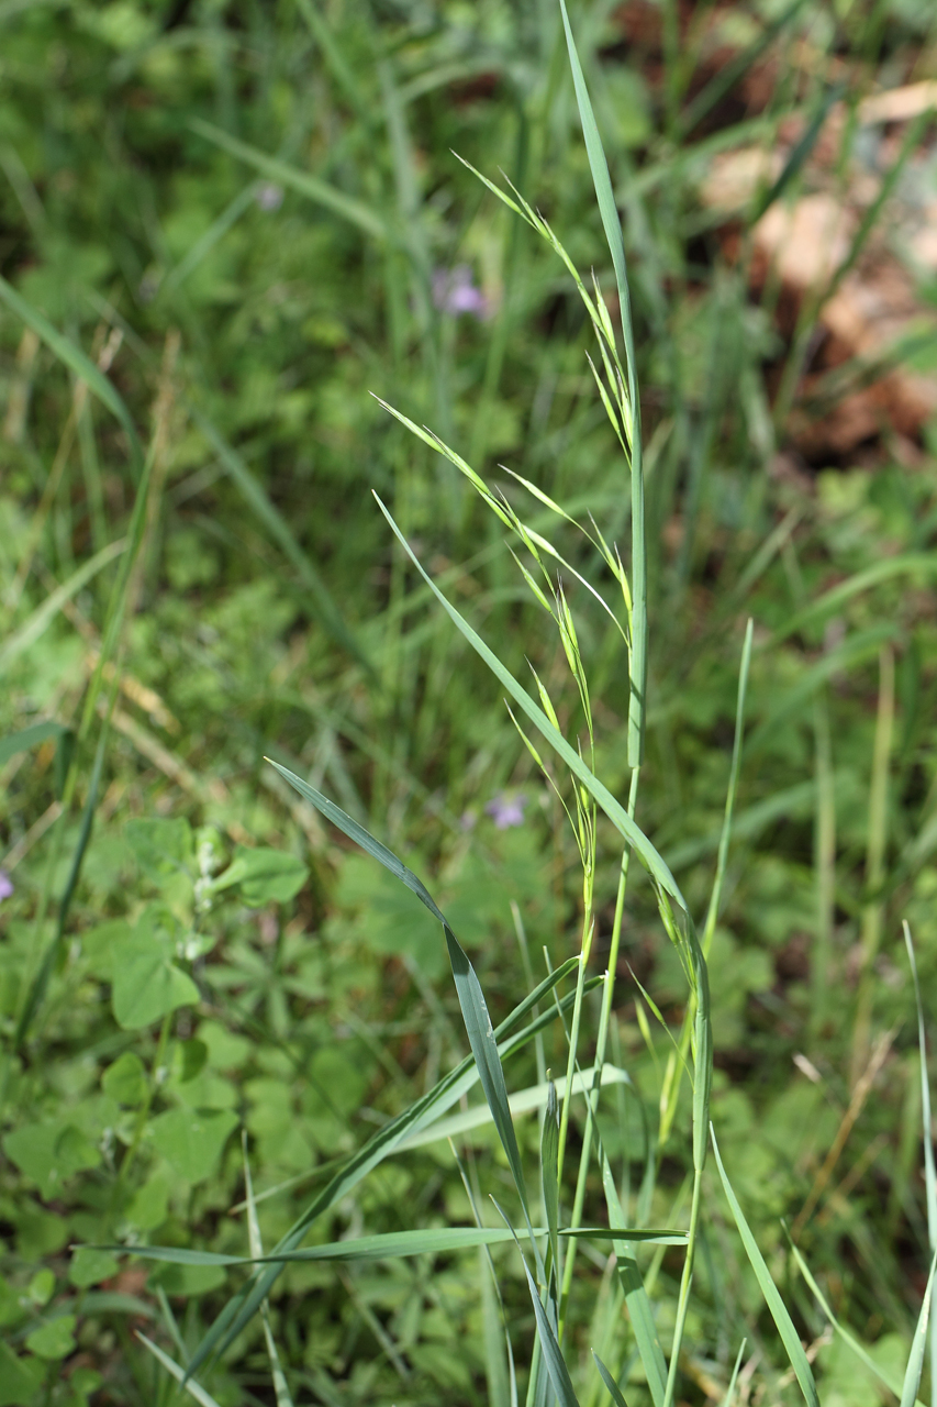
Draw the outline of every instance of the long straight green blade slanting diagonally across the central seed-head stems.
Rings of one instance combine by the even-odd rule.
[[[537,732],[550,743],[550,746],[563,758],[570,771],[574,772],[575,777],[578,777],[578,779],[582,782],[587,791],[595,798],[595,801],[602,808],[602,810],[612,822],[615,829],[619,832],[619,834],[622,834],[625,840],[630,846],[633,846],[635,854],[639,857],[644,868],[654,877],[661,889],[664,889],[668,895],[671,895],[671,898],[675,899],[675,902],[685,913],[687,900],[681,893],[680,885],[670,872],[665,861],[657,853],[654,846],[651,846],[644,832],[635,825],[635,822],[627,815],[620,802],[618,802],[615,796],[612,796],[608,787],[605,787],[598,779],[598,777],[595,777],[595,774],[589,771],[589,768],[585,765],[578,753],[575,753],[570,747],[563,734],[553,726],[553,723],[550,723],[550,719],[546,716],[543,709],[533,702],[526,689],[521,688],[514,675],[504,667],[497,654],[494,654],[488,649],[481,636],[477,635],[471,629],[468,622],[456,611],[456,608],[450,605],[450,602],[442,594],[436,582],[423,570],[419,560],[411,552],[409,543],[404,537],[402,532],[400,530],[400,528],[397,526],[397,523],[394,522],[394,519],[391,518],[390,512],[387,511],[381,499],[377,497],[377,494],[374,494],[374,498],[377,499],[377,505],[380,511],[384,514],[384,518],[387,518],[387,522],[390,523],[394,536],[397,537],[404,552],[414,563],[421,577],[423,578],[426,585],[431,588],[431,591],[445,609],[449,619],[461,632],[461,635],[464,635],[466,640],[468,640],[468,644],[471,644],[471,647],[477,651],[477,654],[481,656],[481,658],[485,661],[485,664],[495,675],[495,678],[498,678],[501,684],[504,684],[508,694],[511,694],[512,699],[523,709],[523,712],[528,715],[528,718],[535,725]]]

